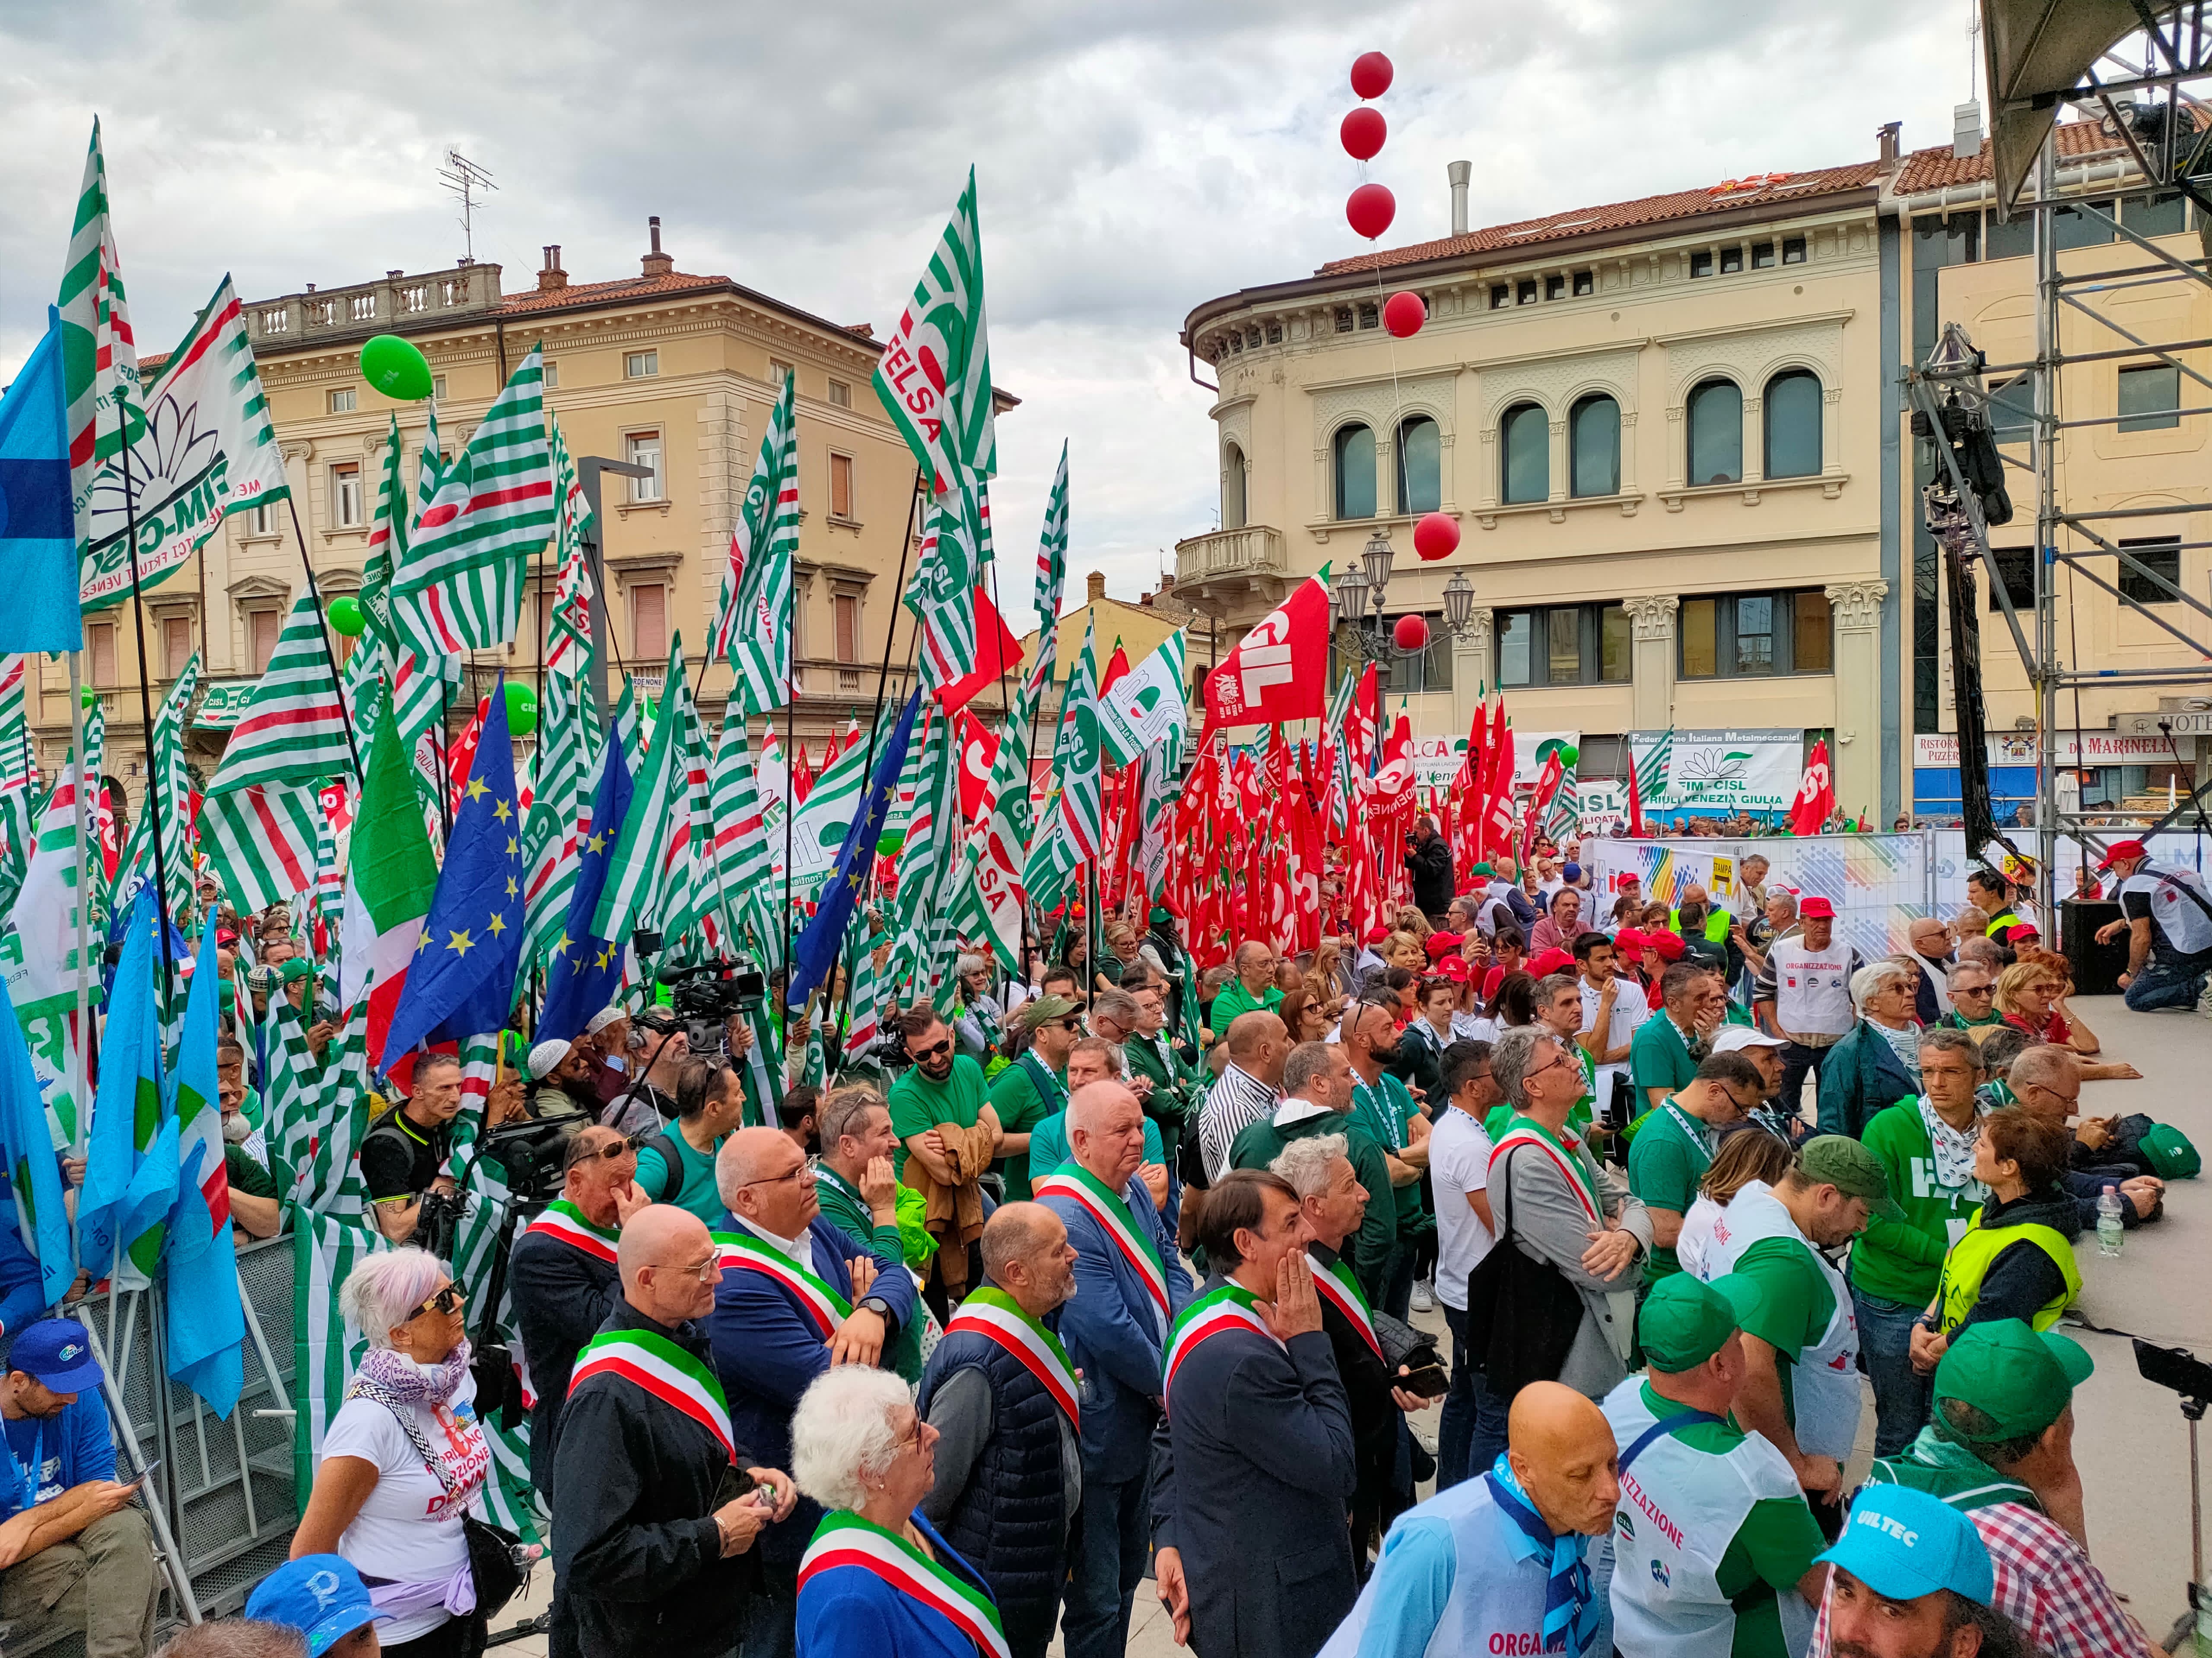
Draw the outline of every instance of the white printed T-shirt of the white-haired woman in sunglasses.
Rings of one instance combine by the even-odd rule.
[[[469,1541],[460,1519],[482,1514],[484,1477],[491,1472],[491,1446],[476,1419],[476,1379],[462,1375],[453,1406],[425,1410],[416,1406],[416,1430],[438,1452],[453,1477],[447,1494],[407,1439],[400,1419],[374,1399],[347,1399],[323,1435],[323,1459],[358,1457],[376,1466],[376,1488],[369,1490],[354,1523],[338,1536],[338,1554],[363,1576],[398,1583],[445,1583],[469,1561]],[[451,1614],[431,1607],[411,1618],[398,1618],[378,1629],[387,1645],[427,1636]]]

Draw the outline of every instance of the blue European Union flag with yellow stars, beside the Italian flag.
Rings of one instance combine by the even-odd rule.
[[[400,1006],[392,1010],[387,1057],[507,1024],[515,1010],[515,968],[526,931],[524,873],[522,800],[515,791],[515,747],[507,738],[507,676],[500,674],[469,765],[469,787],[445,842],[422,942],[407,968]]]

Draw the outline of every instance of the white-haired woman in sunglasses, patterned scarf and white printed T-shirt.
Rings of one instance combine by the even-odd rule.
[[[338,1291],[369,1337],[323,1435],[292,1559],[343,1554],[392,1614],[387,1654],[449,1658],[482,1647],[462,1514],[482,1512],[491,1448],[476,1419],[467,1302],[425,1249],[369,1256]]]

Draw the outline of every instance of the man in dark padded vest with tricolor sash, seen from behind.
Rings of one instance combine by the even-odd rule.
[[[938,1430],[922,1512],[991,1585],[1013,1658],[1044,1658],[1084,1499],[1082,1382],[1053,1329],[1075,1249],[1051,1209],[1006,1203],[982,1229],[982,1269],[916,1395]]]

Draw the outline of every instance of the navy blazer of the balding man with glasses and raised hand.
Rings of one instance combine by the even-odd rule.
[[[714,1231],[743,1231],[743,1227],[723,1214]],[[814,1216],[805,1240],[814,1251],[805,1265],[845,1300],[852,1300],[852,1269],[845,1262],[872,1256],[876,1284],[867,1293],[880,1295],[891,1309],[894,1331],[907,1326],[918,1293],[914,1273],[898,1253],[898,1227],[878,1227],[869,1242],[858,1242],[827,1216]],[[706,1331],[714,1344],[721,1391],[730,1402],[730,1437],[752,1452],[757,1468],[790,1472],[792,1410],[814,1377],[830,1368],[830,1344],[821,1326],[768,1273],[723,1269]],[[891,1331],[885,1331],[885,1351],[889,1337]],[[763,1532],[761,1559],[796,1567],[821,1517],[821,1503],[801,1497],[787,1521]]]

